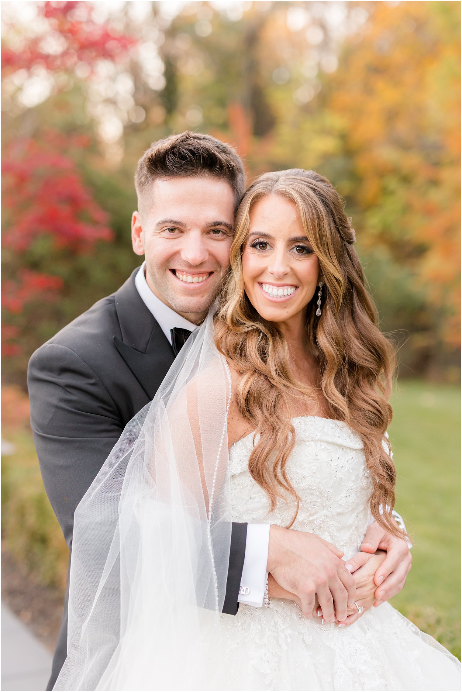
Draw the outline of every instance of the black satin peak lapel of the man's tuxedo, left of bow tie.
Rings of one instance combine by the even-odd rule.
[[[113,336],[113,342],[150,401],[154,399],[175,356],[158,322],[136,290],[137,272],[138,269],[135,269],[115,293],[122,340]]]

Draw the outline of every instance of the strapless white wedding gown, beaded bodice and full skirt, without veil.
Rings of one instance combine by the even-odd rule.
[[[300,498],[293,528],[329,540],[349,558],[358,552],[370,516],[371,481],[360,436],[318,417],[295,418],[293,425],[297,442],[288,475]],[[293,507],[279,502],[268,515],[266,494],[248,473],[252,438],[230,450],[230,520],[285,526]],[[221,616],[221,626],[218,642],[204,642],[220,662],[217,690],[461,689],[457,659],[389,603],[339,628],[305,619],[293,601],[270,599],[270,608],[241,604],[235,617]]]

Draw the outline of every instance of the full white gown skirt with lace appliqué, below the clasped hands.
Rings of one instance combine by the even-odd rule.
[[[389,603],[339,628],[292,601],[241,605],[210,641],[216,690],[460,690],[459,661]],[[217,662],[219,664],[217,665]]]

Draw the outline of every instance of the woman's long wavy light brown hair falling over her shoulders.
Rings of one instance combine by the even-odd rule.
[[[391,513],[380,512],[380,506],[393,508],[395,501],[396,471],[385,437],[391,421],[387,399],[394,349],[377,327],[344,202],[331,183],[313,171],[266,173],[244,194],[230,250],[230,272],[214,320],[216,346],[239,374],[237,406],[259,435],[249,459],[250,475],[268,495],[270,511],[278,498],[293,496],[297,507],[292,526],[299,500],[286,471],[295,444],[290,419],[297,399],[307,397],[315,403],[317,397],[315,388],[296,381],[286,340],[277,323],[264,320],[252,306],[242,274],[250,212],[259,199],[274,194],[295,204],[320,264],[322,314],[316,316],[315,293],[306,308],[306,339],[317,355],[329,415],[362,438],[373,484],[372,514],[391,534],[403,537]]]

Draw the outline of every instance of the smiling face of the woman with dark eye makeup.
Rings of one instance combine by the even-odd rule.
[[[261,317],[304,323],[319,262],[292,201],[275,194],[252,208],[242,272],[248,299]]]

